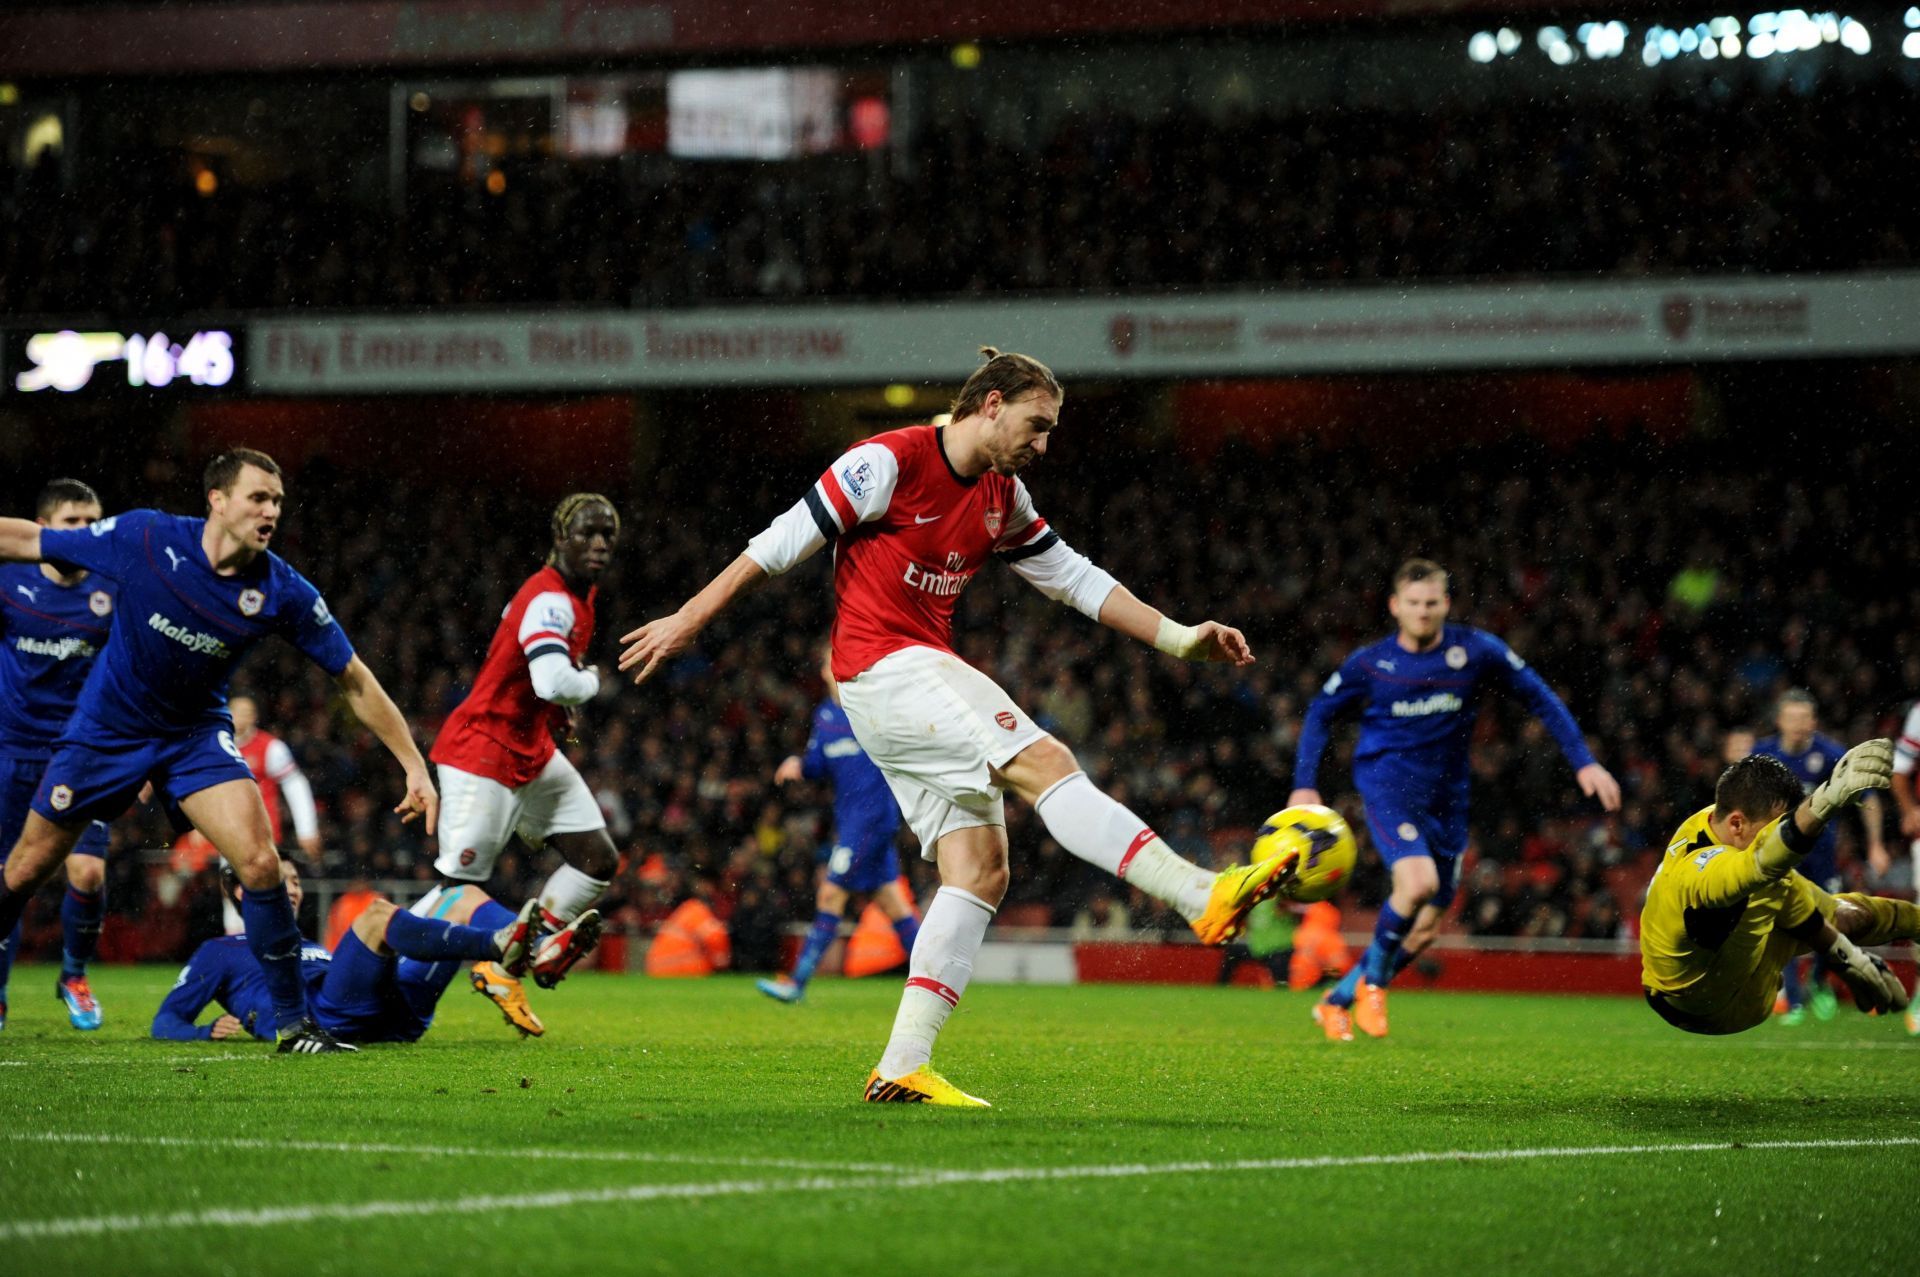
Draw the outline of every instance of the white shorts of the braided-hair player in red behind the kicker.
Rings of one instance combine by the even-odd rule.
[[[444,878],[484,883],[493,876],[507,839],[518,833],[540,847],[553,833],[605,830],[593,791],[566,755],[553,751],[540,776],[518,789],[474,776],[445,762],[440,772],[440,855],[434,868]]]

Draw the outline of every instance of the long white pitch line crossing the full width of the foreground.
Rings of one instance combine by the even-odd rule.
[[[695,1185],[624,1185],[612,1189],[566,1189],[530,1196],[480,1194],[438,1202],[313,1202],[305,1206],[267,1206],[259,1210],[179,1210],[154,1216],[77,1216],[65,1219],[0,1221],[0,1241],[48,1241],[144,1233],[154,1229],[276,1227],[315,1221],[472,1216],[493,1212],[559,1210],[614,1202],[699,1200],[710,1196],[753,1196],[766,1193],[843,1193],[854,1189],[931,1189],[968,1183],[1020,1183],[1066,1179],[1121,1179],[1137,1175],[1208,1175],[1244,1171],[1338,1169],[1350,1166],[1427,1166],[1436,1162],[1530,1162],[1542,1158],[1657,1156],[1674,1152],[1763,1152],[1811,1148],[1905,1148],[1920,1137],[1891,1139],[1782,1139],[1753,1143],[1695,1144],[1599,1144],[1584,1148],[1453,1148],[1444,1152],[1384,1152],[1321,1158],[1242,1158],[1233,1162],[1162,1162],[1119,1166],[1010,1166],[977,1171],[912,1171],[895,1179],[879,1175],[812,1175],[804,1179],[730,1179]]]

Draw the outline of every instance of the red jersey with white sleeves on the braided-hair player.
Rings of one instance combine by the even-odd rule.
[[[578,666],[593,639],[593,599],[599,586],[578,595],[559,568],[526,578],[507,605],[488,645],[472,691],[447,714],[432,760],[486,776],[518,789],[540,776],[553,757],[553,734],[566,730],[566,711],[534,695],[526,663],[545,651],[564,651]]]

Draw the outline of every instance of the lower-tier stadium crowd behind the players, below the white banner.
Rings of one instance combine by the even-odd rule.
[[[1167,661],[996,568],[962,601],[958,649],[1169,843],[1225,864],[1290,789],[1306,701],[1346,651],[1388,630],[1392,568],[1428,553],[1455,572],[1455,618],[1505,636],[1563,691],[1626,791],[1624,808],[1603,818],[1540,724],[1492,701],[1473,753],[1475,845],[1457,926],[1620,935],[1665,837],[1711,795],[1730,730],[1764,734],[1774,697],[1803,686],[1824,730],[1855,741],[1887,732],[1920,691],[1920,591],[1905,570],[1920,515],[1901,499],[1897,444],[1868,432],[1845,447],[1795,436],[1768,444],[1766,465],[1730,449],[1724,436],[1596,434],[1569,447],[1513,436],[1396,461],[1357,444],[1261,453],[1229,444],[1212,465],[1181,465],[1069,444],[1029,476],[1048,520],[1146,599],[1242,626],[1260,664],[1238,674]],[[628,522],[595,639],[603,668],[618,634],[678,605],[810,478],[804,469],[749,472],[714,492],[703,467],[666,459],[651,482],[710,492],[710,503],[622,499]],[[1179,482],[1156,482],[1164,472]],[[146,478],[156,474],[165,478],[154,467]],[[1277,474],[1311,482],[1277,488],[1267,482]],[[190,490],[180,476],[138,499],[190,509]],[[294,476],[292,494],[282,551],[326,590],[417,732],[432,735],[478,668],[505,599],[540,563],[545,505],[511,494],[474,503],[420,480],[382,490],[324,459]],[[324,515],[336,509],[355,517]],[[1872,536],[1841,532],[1868,526]],[[737,951],[772,954],[768,933],[808,916],[828,795],[780,789],[772,776],[804,743],[820,695],[812,649],[829,607],[822,557],[747,595],[664,678],[643,689],[609,680],[586,707],[574,757],[624,853],[609,903],[618,922],[649,928],[701,895],[735,920]],[[326,853],[309,874],[430,874],[419,826],[388,810],[397,774],[319,670],[267,645],[236,689],[259,697],[263,722],[313,782]],[[1352,724],[1336,734],[1323,787],[1365,847],[1342,753],[1350,743]],[[1114,883],[1018,805],[1008,820],[1004,922],[1066,928],[1123,912],[1135,928],[1183,929],[1137,893],[1116,899]],[[117,837],[152,847],[169,831],[136,808]],[[925,887],[929,866],[906,851]],[[1841,856],[1864,881],[1855,824]],[[119,912],[148,904],[132,860],[115,870]],[[1371,908],[1384,878],[1369,855],[1361,864],[1346,903]],[[503,893],[518,899],[543,870],[538,856],[509,851]]]

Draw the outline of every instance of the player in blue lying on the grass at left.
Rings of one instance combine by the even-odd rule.
[[[286,893],[300,904],[300,870],[280,862]],[[221,866],[221,885],[240,897],[232,866]],[[300,976],[313,1018],[342,1045],[411,1043],[434,1024],[434,1008],[447,981],[434,979],[434,966],[457,970],[461,960],[518,962],[532,933],[534,903],[515,916],[478,887],[461,887],[461,899],[444,918],[415,918],[392,901],[369,904],[340,947],[301,941]],[[221,1016],[196,1025],[209,1004]],[[221,935],[194,951],[180,968],[159,1010],[154,1037],[169,1041],[221,1039],[252,1033],[273,1041],[273,993],[267,974],[244,935]],[[353,1050],[351,1047],[346,1047]],[[288,1050],[288,1043],[280,1043]]]

